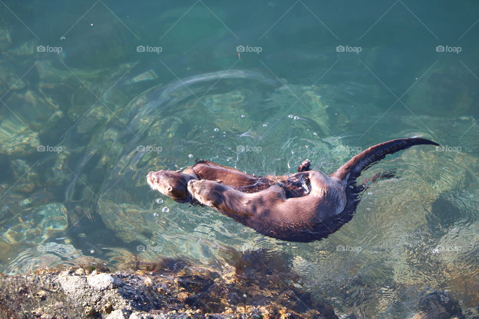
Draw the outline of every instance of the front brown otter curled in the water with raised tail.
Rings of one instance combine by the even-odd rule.
[[[356,185],[361,172],[386,155],[413,145],[439,144],[421,138],[392,140],[370,147],[354,156],[331,175],[318,170],[289,175],[304,176],[311,190],[301,197],[285,195],[274,184],[254,193],[207,179],[188,181],[188,191],[201,204],[232,217],[266,236],[295,242],[310,242],[327,237],[348,222],[359,203],[359,194],[367,187]]]

